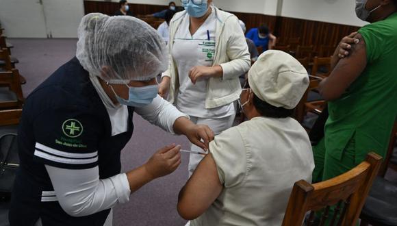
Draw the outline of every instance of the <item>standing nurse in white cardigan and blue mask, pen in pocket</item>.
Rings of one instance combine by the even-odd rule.
[[[212,0],[182,0],[185,11],[170,22],[170,65],[159,94],[194,123],[208,125],[215,134],[228,129],[240,95],[238,77],[251,65],[238,18],[218,10]],[[192,145],[192,150],[200,151]],[[203,157],[190,155],[189,173]]]

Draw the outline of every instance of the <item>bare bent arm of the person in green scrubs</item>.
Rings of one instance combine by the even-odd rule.
[[[333,101],[341,97],[366,68],[366,42],[361,34],[356,34],[354,38],[359,39],[359,43],[352,45],[350,55],[341,59],[331,75],[320,84],[320,94],[326,101]]]

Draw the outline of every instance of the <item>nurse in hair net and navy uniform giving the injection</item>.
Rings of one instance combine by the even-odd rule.
[[[155,77],[167,68],[168,53],[155,29],[131,16],[88,14],[78,35],[76,57],[25,103],[11,225],[112,225],[114,205],[175,171],[180,147],[168,145],[120,173],[134,112],[203,149],[213,137],[157,95]]]

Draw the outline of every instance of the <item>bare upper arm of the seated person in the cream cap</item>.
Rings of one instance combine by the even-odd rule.
[[[214,158],[209,153],[179,192],[179,215],[188,221],[198,218],[214,203],[222,189]]]

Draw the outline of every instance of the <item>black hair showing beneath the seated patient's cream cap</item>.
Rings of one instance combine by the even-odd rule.
[[[248,79],[246,80],[246,84],[244,88],[250,88],[248,84]],[[287,118],[291,117],[294,114],[294,109],[286,109],[283,107],[275,107],[266,101],[262,101],[252,92],[254,95],[253,97],[253,104],[256,110],[261,114],[261,116],[268,117],[268,118]]]

